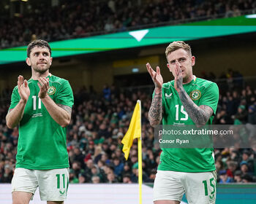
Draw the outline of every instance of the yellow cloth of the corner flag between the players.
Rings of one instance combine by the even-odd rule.
[[[137,101],[135,106],[135,110],[132,114],[131,122],[129,123],[129,128],[121,143],[124,144],[123,152],[124,157],[128,160],[129,157],[129,149],[131,149],[133,139],[140,138],[141,136],[141,124],[140,124],[140,101]]]

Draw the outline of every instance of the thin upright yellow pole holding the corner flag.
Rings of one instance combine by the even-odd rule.
[[[137,101],[140,106],[140,127],[141,127],[141,102],[140,100]],[[140,137],[138,138],[138,181],[139,181],[139,200],[140,204],[142,204],[142,145],[141,145],[141,132]]]

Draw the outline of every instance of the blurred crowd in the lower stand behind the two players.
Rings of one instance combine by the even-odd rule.
[[[214,149],[219,183],[256,182],[256,90],[236,87],[236,79],[228,91],[220,90],[215,124],[245,125],[244,134],[232,148]],[[236,87],[236,88],[234,88]],[[4,96],[10,98],[10,91]],[[153,182],[159,162],[159,143],[148,122],[151,95],[120,91],[107,85],[102,93],[86,87],[75,92],[72,121],[67,127],[67,150],[70,183],[134,183],[138,182],[138,146],[134,141],[129,159],[124,159],[121,139],[127,132],[132,111],[142,101],[143,182]],[[5,103],[6,104],[6,103]],[[10,130],[5,124],[7,105],[0,107],[0,183],[10,183],[15,169],[18,127]],[[237,126],[238,127],[238,126]],[[243,126],[244,127],[244,126]],[[241,149],[244,141],[251,148]]]

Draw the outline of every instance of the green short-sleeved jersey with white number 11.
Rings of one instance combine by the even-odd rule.
[[[73,106],[74,98],[69,82],[49,75],[48,95],[57,104]],[[68,168],[66,127],[61,127],[48,113],[38,98],[38,81],[29,79],[30,95],[19,125],[16,168],[55,169]],[[20,101],[18,87],[12,91],[10,109]]]

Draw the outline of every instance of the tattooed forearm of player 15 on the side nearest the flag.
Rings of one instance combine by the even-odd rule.
[[[154,98],[152,100],[148,120],[152,126],[159,125],[162,119],[162,90],[155,90]]]

